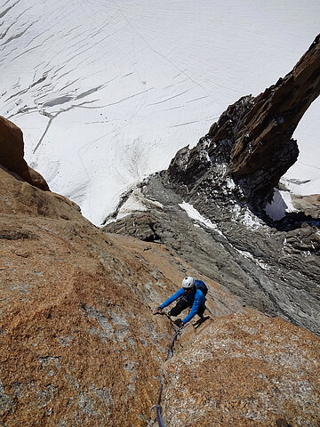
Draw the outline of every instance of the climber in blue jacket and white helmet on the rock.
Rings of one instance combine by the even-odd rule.
[[[182,280],[182,287],[173,294],[168,300],[164,301],[159,307],[153,311],[153,314],[159,314],[172,302],[180,300],[176,303],[175,307],[169,311],[169,316],[178,316],[181,311],[188,309],[188,307],[192,307],[191,311],[188,313],[186,318],[182,320],[178,318],[174,323],[177,326],[183,327],[186,323],[191,320],[196,314],[199,318],[204,318],[204,310],[205,310],[205,294],[207,293],[208,288],[205,286],[204,282],[201,280],[194,280],[188,276]]]

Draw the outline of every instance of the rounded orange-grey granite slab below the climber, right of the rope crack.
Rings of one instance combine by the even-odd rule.
[[[319,425],[320,338],[253,312],[199,329],[164,367],[166,426]]]

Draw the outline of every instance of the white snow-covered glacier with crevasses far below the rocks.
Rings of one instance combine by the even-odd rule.
[[[51,189],[99,224],[228,104],[290,71],[319,20],[317,0],[4,0],[0,115]],[[286,177],[311,180],[300,193],[320,192],[319,112],[294,134]]]

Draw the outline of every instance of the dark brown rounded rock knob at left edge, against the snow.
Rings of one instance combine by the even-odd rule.
[[[48,190],[49,186],[43,176],[29,167],[23,156],[23,134],[20,127],[0,116],[0,165],[19,175],[23,181]]]

